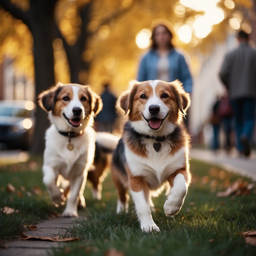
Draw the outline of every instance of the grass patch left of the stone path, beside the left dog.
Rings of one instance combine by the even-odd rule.
[[[0,209],[9,207],[15,211],[13,214],[0,211],[0,240],[14,239],[26,226],[60,212],[42,183],[41,164],[39,158],[0,166]],[[9,191],[7,184],[12,184],[15,191]]]

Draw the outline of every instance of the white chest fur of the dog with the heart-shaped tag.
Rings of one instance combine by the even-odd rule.
[[[157,152],[153,147],[155,142],[157,141],[151,138],[142,138],[141,143],[146,146],[147,157],[139,156],[125,146],[125,156],[131,174],[145,177],[152,189],[161,187],[168,176],[185,165],[187,152],[187,148],[182,147],[171,155],[172,143],[166,140],[158,142],[161,143],[161,148]]]

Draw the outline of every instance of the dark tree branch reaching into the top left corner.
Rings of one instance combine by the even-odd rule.
[[[33,24],[31,9],[24,12],[10,2],[10,0],[0,0],[0,6],[2,6],[7,12],[10,12],[15,18],[22,20],[30,29]]]

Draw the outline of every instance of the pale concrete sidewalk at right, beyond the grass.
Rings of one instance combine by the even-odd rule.
[[[252,151],[249,157],[239,156],[235,149],[227,154],[220,150],[214,152],[207,149],[191,148],[190,158],[221,166],[226,170],[241,174],[256,180],[256,152]]]

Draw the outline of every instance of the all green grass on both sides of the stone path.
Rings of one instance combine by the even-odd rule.
[[[101,201],[92,199],[88,182],[85,190],[87,208],[79,211],[79,215],[85,215],[87,219],[74,223],[72,228],[63,230],[62,233],[62,237],[81,239],[65,243],[62,249],[54,249],[53,255],[108,255],[111,248],[126,256],[255,255],[256,247],[246,244],[240,235],[244,231],[256,230],[255,194],[217,197],[217,192],[225,190],[230,183],[241,177],[199,161],[192,160],[190,164],[193,181],[182,209],[174,218],[164,215],[166,196],[153,198],[156,212],[152,216],[161,233],[145,234],[140,230],[132,199],[128,214],[115,213],[117,194],[110,175],[103,183]],[[23,171],[14,168],[10,172],[10,167],[5,167],[0,171],[1,207],[6,205],[20,210],[19,214],[8,217],[2,214],[5,218],[13,218],[12,220],[1,222],[2,217],[0,218],[0,227],[3,222],[13,225],[16,223],[16,229],[9,232],[9,237],[19,234],[22,222],[18,221],[37,221],[56,210],[42,184],[40,165],[41,163],[36,170],[26,167]],[[248,178],[242,179],[251,182]],[[26,191],[33,191],[37,186],[42,189],[42,194],[27,196],[26,191],[22,191],[22,197],[16,195],[17,193],[10,194],[5,191],[7,183],[12,183],[16,190],[24,186]]]

